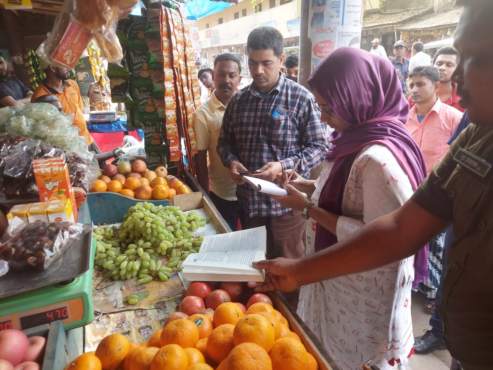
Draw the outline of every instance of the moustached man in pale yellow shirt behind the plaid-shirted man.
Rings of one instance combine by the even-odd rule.
[[[229,53],[217,56],[212,73],[212,82],[217,87],[210,98],[193,112],[193,129],[199,149],[195,155],[197,180],[233,231],[238,229],[238,219],[245,224],[244,211],[236,198],[236,183],[231,180],[229,170],[222,165],[216,147],[224,112],[242,80],[241,72],[242,67],[236,56]]]

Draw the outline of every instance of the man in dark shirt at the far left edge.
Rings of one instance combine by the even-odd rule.
[[[33,92],[17,77],[12,77],[0,53],[0,108],[23,106],[31,102]]]

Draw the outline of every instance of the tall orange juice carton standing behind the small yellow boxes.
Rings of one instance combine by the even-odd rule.
[[[52,164],[47,167],[35,166],[33,172],[41,202],[47,202],[53,199],[70,199],[73,217],[76,220],[77,205],[72,186],[70,185],[67,164]]]

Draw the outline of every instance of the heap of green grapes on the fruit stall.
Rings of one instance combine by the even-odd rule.
[[[156,206],[139,202],[129,209],[119,226],[94,228],[96,238],[95,269],[114,280],[139,276],[139,283],[155,278],[168,281],[183,260],[198,253],[203,236],[194,237],[209,220],[197,212],[184,213],[179,207]],[[161,256],[168,257],[164,265]]]

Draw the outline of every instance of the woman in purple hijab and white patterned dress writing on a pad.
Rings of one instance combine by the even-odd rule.
[[[317,181],[296,174],[286,185],[289,195],[273,198],[307,209],[310,255],[399,208],[426,170],[404,126],[409,105],[387,60],[343,47],[317,65],[308,83],[322,120],[335,130],[327,163]],[[278,184],[290,173],[280,174]],[[300,191],[311,194],[314,204]],[[411,288],[413,280],[416,285],[427,276],[425,249],[377,270],[302,287],[297,313],[342,369],[360,369],[369,359],[381,369],[407,363],[413,348]]]

